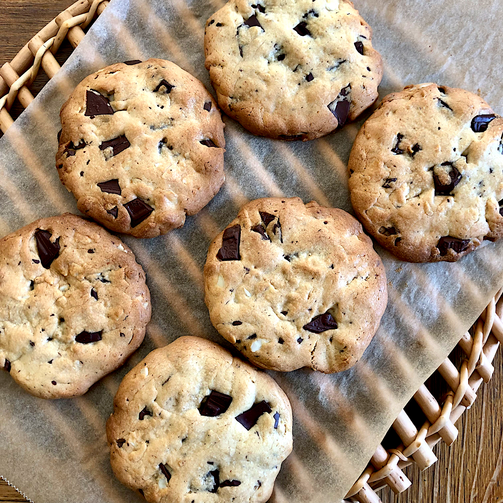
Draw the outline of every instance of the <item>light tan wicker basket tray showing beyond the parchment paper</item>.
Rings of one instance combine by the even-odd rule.
[[[42,67],[49,78],[59,70],[54,54],[65,38],[76,47],[87,28],[108,5],[108,0],[79,0],[52,20],[35,35],[9,63],[0,69],[0,129],[5,133],[13,124],[9,114],[15,100],[26,108],[34,99],[29,87]],[[21,76],[20,76],[21,75]],[[476,391],[492,376],[492,360],[503,343],[503,288],[482,312],[470,332],[463,335],[458,347],[466,355],[457,368],[446,358],[438,368],[448,391],[443,396],[437,385],[429,381],[414,394],[413,399],[395,419],[389,433],[390,446],[379,445],[346,495],[347,501],[379,503],[376,491],[388,485],[395,494],[406,490],[410,480],[402,468],[415,463],[426,470],[437,461],[432,447],[443,440],[451,445],[458,436],[455,426],[461,414],[477,397]],[[411,405],[415,404],[415,408]],[[411,411],[409,411],[411,409]],[[420,424],[418,424],[418,422]],[[388,437],[388,436],[387,436]],[[393,444],[393,440],[395,443]]]

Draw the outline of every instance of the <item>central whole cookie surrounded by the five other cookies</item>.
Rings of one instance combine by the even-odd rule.
[[[209,247],[204,287],[220,334],[281,371],[353,366],[387,303],[384,267],[360,223],[298,197],[245,204]]]

